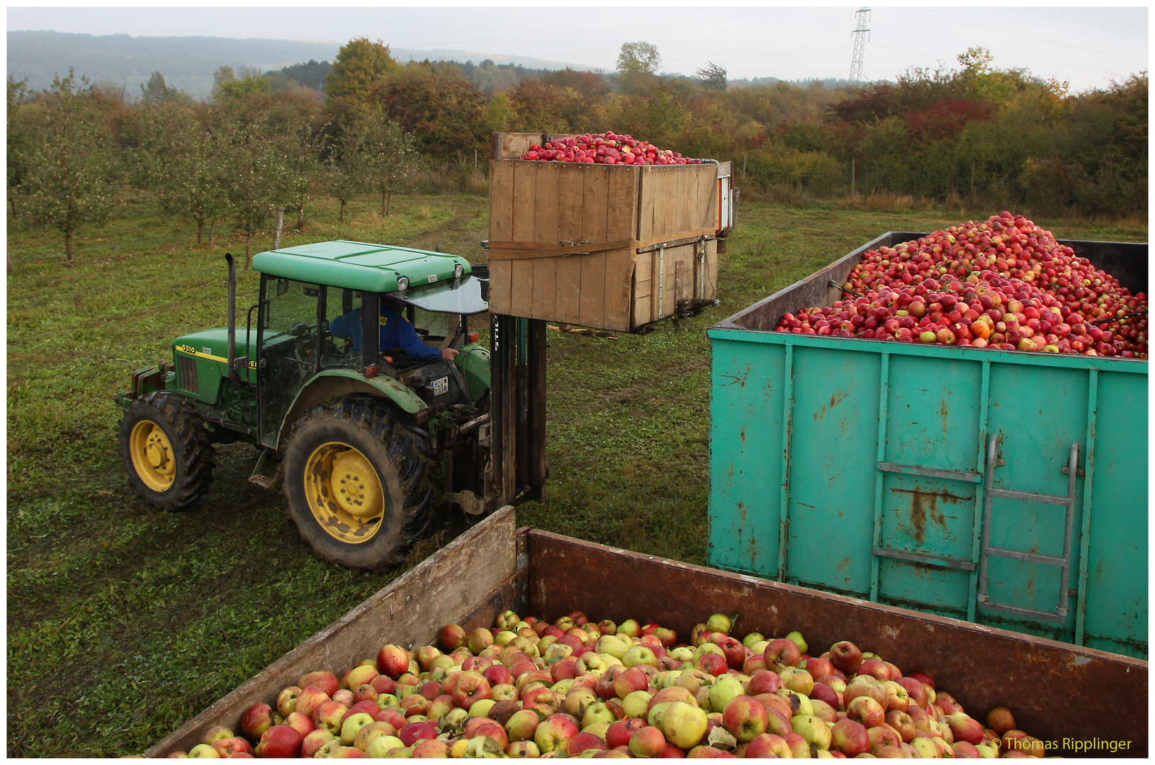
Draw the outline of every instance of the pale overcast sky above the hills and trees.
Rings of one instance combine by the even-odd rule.
[[[611,70],[621,44],[658,47],[664,72],[692,75],[711,61],[731,78],[848,77],[855,12],[769,6],[598,7],[8,7],[8,30],[91,35],[266,37],[527,55]],[[1132,7],[873,7],[865,80],[894,80],[909,67],[957,68],[968,47],[991,51],[998,68],[1055,77],[1072,91],[1108,88],[1147,69],[1148,10]],[[478,59],[479,60],[479,59]]]

